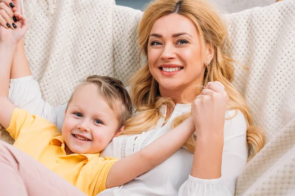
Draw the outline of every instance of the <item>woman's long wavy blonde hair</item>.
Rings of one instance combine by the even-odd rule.
[[[254,126],[254,120],[245,99],[232,85],[234,79],[234,60],[229,53],[229,37],[225,23],[218,9],[207,0],[154,0],[144,12],[139,24],[140,54],[148,56],[148,37],[157,19],[162,16],[177,13],[192,20],[200,35],[203,55],[205,45],[214,49],[212,61],[206,65],[203,86],[210,81],[219,81],[225,86],[229,96],[228,109],[239,110],[247,123],[248,160],[251,160],[265,145],[264,131]],[[121,134],[140,134],[153,128],[160,116],[160,106],[165,104],[173,109],[175,103],[171,98],[163,98],[159,93],[158,82],[149,72],[148,63],[137,71],[129,80],[130,97],[136,113],[125,122],[125,130]],[[199,89],[200,90],[200,89]],[[197,91],[197,90],[196,90]],[[172,128],[182,123],[191,113],[174,119]],[[190,152],[195,150],[195,138],[192,136],[185,143]]]

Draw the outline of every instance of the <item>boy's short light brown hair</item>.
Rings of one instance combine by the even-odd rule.
[[[87,77],[86,80],[83,80],[76,86],[73,94],[71,95],[71,98],[68,101],[68,105],[72,101],[73,96],[75,95],[77,89],[87,84],[95,84],[98,87],[98,93],[103,98],[105,98],[105,101],[110,106],[110,108],[112,110],[118,111],[118,121],[119,121],[118,129],[121,126],[123,126],[125,121],[132,114],[131,99],[124,87],[124,84],[120,80],[115,79],[113,77],[91,75]]]

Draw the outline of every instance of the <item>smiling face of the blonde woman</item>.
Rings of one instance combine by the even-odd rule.
[[[199,33],[190,19],[170,14],[153,24],[148,39],[148,66],[162,96],[164,92],[171,95],[171,91],[180,93],[202,84],[205,60]]]

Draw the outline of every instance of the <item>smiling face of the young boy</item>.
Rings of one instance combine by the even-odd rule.
[[[102,151],[118,134],[118,118],[95,84],[80,86],[68,105],[62,126],[66,146],[79,154]]]

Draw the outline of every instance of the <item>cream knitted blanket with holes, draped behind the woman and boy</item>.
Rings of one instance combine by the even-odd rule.
[[[26,52],[43,98],[67,101],[90,74],[124,82],[139,68],[142,12],[114,0],[25,0]],[[295,1],[226,16],[236,60],[235,86],[247,99],[266,147],[241,173],[236,195],[295,195]],[[0,131],[7,142],[7,133]]]

